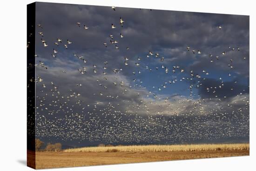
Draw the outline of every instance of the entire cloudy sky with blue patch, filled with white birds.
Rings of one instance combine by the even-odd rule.
[[[36,25],[44,142],[249,142],[249,16],[36,2]]]

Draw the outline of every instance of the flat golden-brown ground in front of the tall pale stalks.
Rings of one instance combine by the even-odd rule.
[[[248,156],[249,150],[174,152],[36,152],[36,169]]]

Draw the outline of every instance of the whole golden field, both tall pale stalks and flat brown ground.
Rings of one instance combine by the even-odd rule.
[[[249,144],[84,147],[36,152],[36,169],[248,155]]]

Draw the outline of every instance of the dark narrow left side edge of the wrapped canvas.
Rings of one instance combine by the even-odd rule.
[[[27,166],[35,163],[35,2],[27,5]]]

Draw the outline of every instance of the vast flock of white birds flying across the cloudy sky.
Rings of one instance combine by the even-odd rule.
[[[112,10],[116,10],[112,7]],[[119,24],[125,27],[127,21],[120,17]],[[86,31],[91,28],[81,22],[74,23],[78,29]],[[82,27],[83,26],[83,27]],[[117,27],[113,23],[109,27],[115,32]],[[38,36],[43,48],[49,48],[44,39],[44,28],[37,24],[40,29]],[[217,26],[216,29],[223,29]],[[120,38],[125,37],[119,34]],[[52,57],[59,58],[58,51],[61,46],[75,45],[71,39],[56,38],[52,50]],[[119,49],[119,41],[113,34],[109,34],[109,42],[102,42],[105,48]],[[130,50],[129,47],[126,50]],[[202,54],[201,49],[184,47],[187,53]],[[228,51],[238,52],[239,47],[227,47],[227,49],[215,57],[209,54],[209,64],[215,60],[222,60]],[[74,60],[81,63],[77,68],[77,74],[87,76],[95,75],[95,91],[87,92],[87,85],[79,82],[74,83],[74,89],[65,90],[65,85],[57,85],[54,80],[45,80],[44,75],[30,78],[30,82],[36,82],[36,136],[61,139],[63,141],[76,140],[79,143],[107,142],[107,143],[182,143],[188,141],[213,140],[219,138],[244,137],[249,132],[249,95],[245,90],[234,97],[233,102],[223,94],[216,95],[225,82],[219,77],[219,85],[206,87],[205,91],[211,94],[211,98],[202,99],[193,90],[201,88],[203,80],[211,74],[206,69],[202,72],[185,71],[181,66],[165,66],[162,54],[148,51],[144,57],[130,59],[123,57],[123,64],[118,68],[110,68],[113,61],[102,61],[100,64],[88,66],[85,57],[73,53]],[[36,67],[49,69],[43,58],[36,57]],[[160,60],[160,65],[151,68],[145,66],[142,60]],[[246,59],[246,57],[241,57]],[[134,62],[135,61],[135,62]],[[162,64],[161,64],[162,63]],[[230,59],[230,70],[234,69],[234,60]],[[130,82],[121,77],[124,70],[135,68],[134,76]],[[67,74],[68,71],[61,71]],[[153,87],[142,85],[139,78],[143,72],[163,72],[164,74],[176,75],[173,79],[164,81]],[[231,72],[227,73],[230,77]],[[181,78],[178,78],[181,76]],[[167,77],[172,78],[172,77]],[[68,79],[68,78],[67,78]],[[177,95],[163,97],[161,91],[181,81],[189,82],[188,91],[190,97]],[[157,83],[155,83],[157,84]],[[234,84],[237,84],[234,82]],[[110,91],[110,90],[112,91]],[[233,87],[229,87],[233,91]],[[61,91],[62,90],[62,91]],[[77,90],[77,91],[75,91]],[[79,91],[78,91],[79,90]],[[100,90],[100,91],[98,91]],[[229,93],[229,92],[227,92]],[[94,97],[97,101],[85,101],[86,96]],[[229,99],[229,100],[228,100]],[[236,100],[237,99],[237,100]],[[237,106],[236,106],[237,104]],[[242,104],[242,105],[241,105]]]

